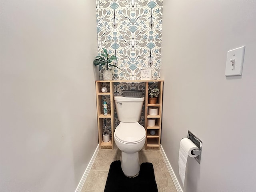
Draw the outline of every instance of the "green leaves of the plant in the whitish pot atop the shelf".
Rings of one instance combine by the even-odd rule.
[[[110,64],[112,61],[116,60],[117,58],[116,56],[112,55],[109,56],[108,51],[104,48],[103,49],[103,53],[100,54],[100,56],[96,56],[93,64],[95,66],[100,65],[100,66],[106,66],[106,70],[109,70],[110,67],[117,67],[119,69],[118,66],[114,65],[114,64]]]

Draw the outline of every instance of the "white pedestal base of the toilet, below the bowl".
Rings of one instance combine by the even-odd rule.
[[[120,161],[125,176],[135,177],[140,172],[139,152],[132,154],[122,152]]]

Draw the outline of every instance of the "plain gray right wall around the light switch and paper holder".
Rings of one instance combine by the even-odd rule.
[[[243,45],[242,76],[226,78],[227,51]],[[203,141],[184,191],[255,191],[255,54],[256,1],[164,1],[162,146],[180,184],[180,140],[190,130]]]

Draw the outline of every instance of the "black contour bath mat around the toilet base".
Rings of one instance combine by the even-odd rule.
[[[111,163],[104,192],[158,192],[152,163],[142,163],[137,177],[124,175],[121,162]]]

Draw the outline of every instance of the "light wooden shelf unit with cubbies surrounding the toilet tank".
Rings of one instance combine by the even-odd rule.
[[[98,138],[99,138],[99,146],[102,149],[114,149],[114,82],[144,82],[145,83],[145,120],[144,120],[144,128],[146,130],[146,149],[160,149],[160,140],[161,140],[161,124],[162,124],[162,97],[163,97],[163,84],[164,80],[112,80],[112,81],[104,81],[98,80],[95,82],[96,84],[96,102],[97,102],[97,119],[98,119]],[[156,104],[148,103],[148,87],[149,82],[156,82],[157,86],[160,90],[160,94],[158,95],[158,100]],[[109,84],[110,90],[107,93],[102,93],[101,88],[102,84]],[[108,115],[104,115],[102,112],[102,96],[110,96],[110,111],[108,111]],[[109,105],[109,104],[108,104]],[[148,115],[148,107],[157,107],[158,115]],[[109,142],[103,142],[102,134],[103,134],[103,118],[110,118],[111,121],[111,139]],[[148,118],[155,118],[156,124],[155,126],[147,126]],[[156,134],[151,135],[150,130],[155,130]]]

